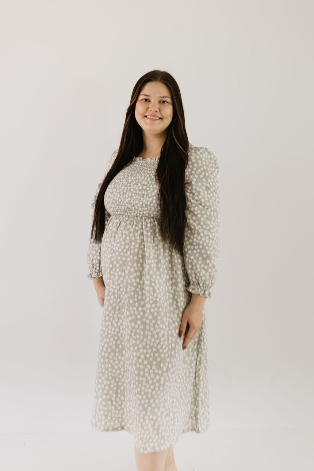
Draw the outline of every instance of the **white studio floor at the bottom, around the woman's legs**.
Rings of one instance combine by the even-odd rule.
[[[314,428],[210,429],[175,444],[178,471],[312,471]],[[123,430],[1,434],[3,471],[136,471],[133,437]]]

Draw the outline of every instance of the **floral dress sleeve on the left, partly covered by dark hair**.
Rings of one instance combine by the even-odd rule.
[[[103,181],[104,181],[105,176],[107,175],[108,171],[111,169],[111,166],[112,166],[117,154],[118,154],[118,149],[116,149],[110,155],[109,160],[108,160],[107,165],[106,165],[106,168],[105,168],[105,175],[104,175],[103,179],[101,180],[101,182],[97,186],[97,189],[96,189],[96,192],[95,192],[92,204],[91,204],[92,217],[91,217],[90,229],[92,227],[93,220],[94,220],[95,203],[96,203],[96,200],[97,200],[97,196],[98,196],[100,187],[102,186]],[[108,213],[108,211],[105,208],[105,227],[107,225],[109,216],[110,216],[110,214]],[[89,236],[90,236],[90,232],[89,232]],[[101,244],[97,244],[93,240],[91,242],[89,241],[88,252],[87,252],[87,264],[88,264],[88,268],[89,268],[89,274],[87,276],[90,280],[93,277],[98,278],[100,276],[103,276],[103,272],[102,272],[102,269],[101,269],[101,263],[100,263],[100,248],[101,248]]]

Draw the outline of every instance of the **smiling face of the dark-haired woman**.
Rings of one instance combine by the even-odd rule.
[[[145,83],[135,106],[135,118],[143,132],[155,136],[164,133],[173,116],[171,98],[171,92],[164,83]]]

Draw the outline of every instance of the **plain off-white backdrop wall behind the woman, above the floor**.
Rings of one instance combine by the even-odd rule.
[[[211,427],[313,426],[313,3],[2,1],[0,432],[89,431],[91,201],[137,79],[220,165]]]

